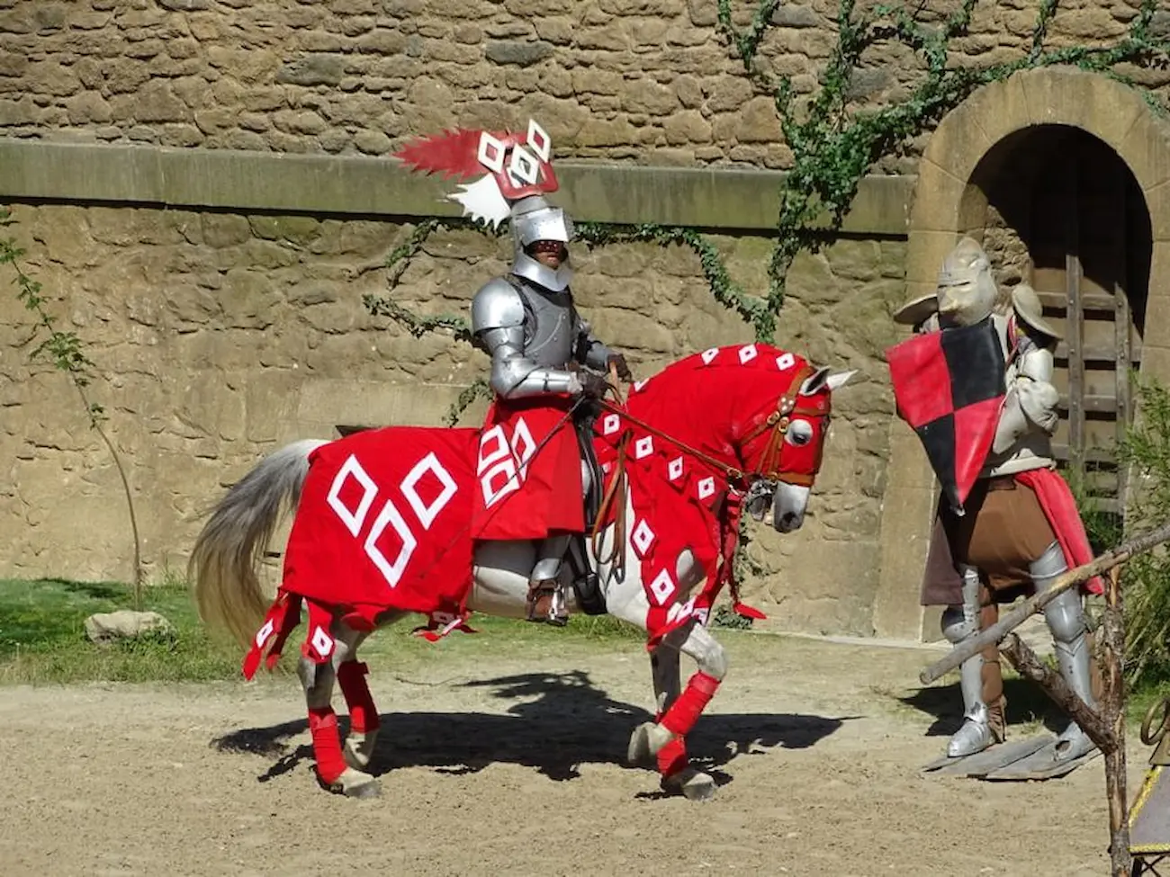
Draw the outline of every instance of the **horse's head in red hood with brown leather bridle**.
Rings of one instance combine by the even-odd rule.
[[[763,520],[771,503],[772,526],[782,533],[804,524],[828,435],[833,391],[854,374],[831,374],[827,366],[799,364],[790,353],[777,358],[778,364],[785,360],[792,361],[792,368],[779,370],[778,384],[756,382],[757,391],[770,393],[780,386],[782,392],[749,420],[738,442],[744,472],[755,476],[744,500],[748,513]]]

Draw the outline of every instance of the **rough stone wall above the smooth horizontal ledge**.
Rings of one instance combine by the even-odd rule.
[[[929,0],[924,21],[950,14]],[[1039,4],[980,2],[962,62],[1031,48]],[[1135,0],[1068,0],[1052,47],[1122,35]],[[743,26],[753,2],[732,2]],[[837,0],[785,2],[760,48],[815,89]],[[386,154],[453,124],[523,126],[558,157],[785,167],[770,97],[715,27],[715,0],[0,0],[0,133],[282,152]],[[1170,32],[1170,13],[1157,16]],[[921,64],[880,41],[858,105],[903,99]],[[1136,71],[1165,91],[1170,70]],[[911,170],[917,146],[883,163]]]

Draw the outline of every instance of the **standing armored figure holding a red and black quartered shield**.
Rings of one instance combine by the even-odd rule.
[[[1092,558],[1051,448],[1059,422],[1052,381],[1060,333],[1027,284],[1013,288],[1006,315],[993,312],[996,297],[990,260],[976,241],[963,239],[943,263],[935,296],[914,298],[895,315],[914,326],[915,338],[888,352],[899,410],[918,433],[943,485],[922,603],[947,607],[942,633],[956,645],[991,627],[999,605],[1052,587]],[[929,372],[945,379],[922,381]],[[1100,580],[1087,585],[1100,587]],[[1081,594],[1065,592],[1044,612],[1061,676],[1095,706]],[[948,745],[952,759],[1005,739],[998,648],[965,661],[959,685],[964,720]],[[1040,772],[1059,769],[1093,748],[1071,721],[1026,760]]]

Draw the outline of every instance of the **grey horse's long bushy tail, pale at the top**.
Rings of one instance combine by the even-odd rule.
[[[199,617],[243,647],[263,620],[266,598],[256,567],[285,507],[295,509],[309,474],[309,454],[329,442],[305,438],[264,457],[232,485],[195,539],[187,561]]]

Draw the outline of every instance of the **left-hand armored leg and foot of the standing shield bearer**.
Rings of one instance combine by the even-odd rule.
[[[943,636],[956,645],[979,631],[983,613],[979,571],[961,565],[959,572],[963,575],[963,605],[948,606],[942,617]],[[947,745],[950,758],[973,755],[1004,739],[1003,683],[993,649],[991,660],[984,651],[959,664],[963,726]]]

